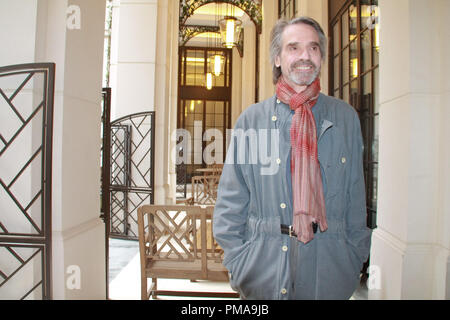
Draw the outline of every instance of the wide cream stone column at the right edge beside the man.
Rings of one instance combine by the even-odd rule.
[[[379,5],[379,201],[371,250],[377,272],[369,298],[449,298],[450,3]]]

